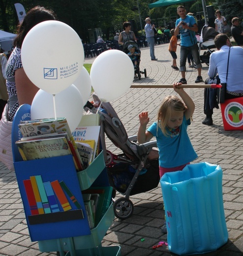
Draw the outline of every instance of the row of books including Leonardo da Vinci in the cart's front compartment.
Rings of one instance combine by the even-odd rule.
[[[16,145],[23,160],[72,155],[77,171],[84,169],[77,144],[65,118],[23,121],[23,135]]]

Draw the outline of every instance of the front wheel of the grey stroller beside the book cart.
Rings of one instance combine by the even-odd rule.
[[[134,206],[130,199],[119,198],[114,202],[113,209],[117,218],[125,220],[132,215]]]

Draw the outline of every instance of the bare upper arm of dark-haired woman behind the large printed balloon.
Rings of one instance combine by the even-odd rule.
[[[30,81],[23,67],[15,71],[15,83],[19,105],[31,105],[32,100],[38,92],[39,88]]]

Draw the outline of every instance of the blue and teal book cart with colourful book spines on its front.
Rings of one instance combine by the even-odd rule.
[[[80,172],[76,171],[71,155],[23,161],[15,144],[21,138],[18,128],[21,120],[30,120],[30,105],[24,104],[16,112],[12,128],[12,147],[14,168],[31,241],[38,241],[41,252],[58,251],[61,256],[119,256],[120,246],[101,246],[101,241],[115,217],[111,202],[112,188],[109,186],[103,152],[87,169]],[[33,193],[36,195],[35,182],[38,185],[36,188],[40,202],[36,199],[36,203],[33,203],[31,198]],[[55,201],[53,191],[46,193],[45,197],[40,187],[44,189],[52,183],[65,185],[69,193],[64,189],[61,192],[65,191],[66,201]],[[104,189],[104,201],[107,205],[105,210],[102,208],[101,220],[92,229],[82,196],[82,191],[87,189]],[[56,192],[55,190],[55,194]]]

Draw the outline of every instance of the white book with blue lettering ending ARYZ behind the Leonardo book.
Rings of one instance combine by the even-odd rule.
[[[94,160],[95,156],[99,154],[99,132],[100,132],[100,126],[87,126],[87,127],[77,127],[72,135],[76,142],[84,142],[87,143],[89,140],[94,140],[95,144],[93,148],[93,154],[92,154],[92,161]]]

